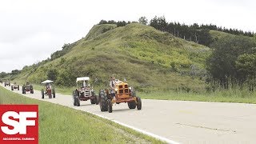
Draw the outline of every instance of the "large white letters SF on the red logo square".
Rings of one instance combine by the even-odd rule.
[[[15,121],[10,119],[10,117],[19,119]],[[13,126],[13,129],[10,129],[8,126],[1,126],[1,130],[5,134],[26,134],[26,126],[35,126],[35,120],[27,120],[27,118],[37,118],[37,112],[14,112],[7,111],[2,114],[2,122],[8,126]]]

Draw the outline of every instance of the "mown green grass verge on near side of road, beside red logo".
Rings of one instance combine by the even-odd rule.
[[[40,143],[162,143],[93,114],[26,98],[2,86],[0,104],[38,104]]]

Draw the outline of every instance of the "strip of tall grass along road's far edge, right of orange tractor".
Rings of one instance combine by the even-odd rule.
[[[180,101],[198,101],[198,102],[237,102],[256,104],[256,93],[250,93],[247,90],[219,90],[211,93],[186,93],[186,92],[150,92],[138,93],[145,99],[162,100],[180,100]]]

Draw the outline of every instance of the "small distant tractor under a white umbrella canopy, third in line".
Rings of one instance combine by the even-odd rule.
[[[55,98],[55,89],[51,85],[52,82],[54,81],[46,80],[42,82],[42,84],[46,85],[45,90],[44,89],[41,90],[42,98],[45,98],[45,96],[48,96],[49,98]]]

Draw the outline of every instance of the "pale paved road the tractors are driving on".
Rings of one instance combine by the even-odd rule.
[[[9,86],[6,88],[10,90]],[[21,90],[14,92],[22,94]],[[41,92],[35,90],[34,94],[25,96],[97,114],[167,138],[169,142],[256,143],[254,104],[142,99],[142,110],[130,110],[122,103],[113,106],[113,113],[108,113],[101,112],[99,106],[91,105],[90,101],[73,106],[69,95],[56,94],[56,98],[42,99]]]

